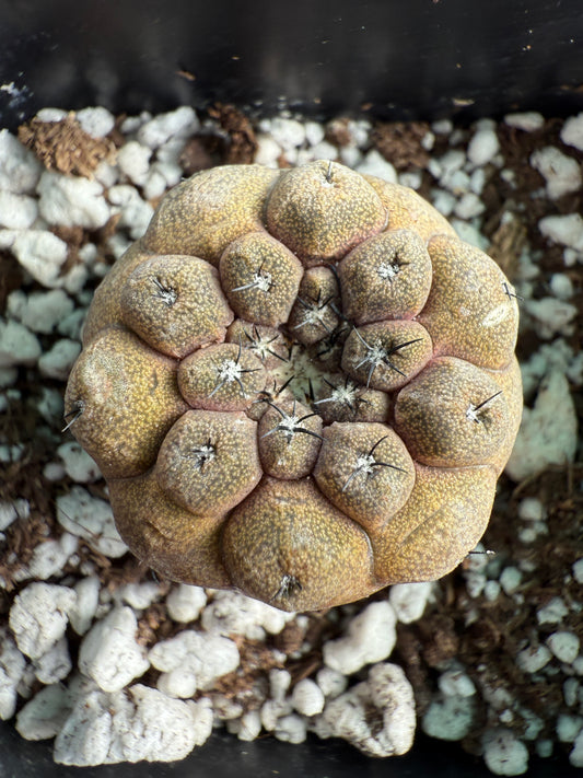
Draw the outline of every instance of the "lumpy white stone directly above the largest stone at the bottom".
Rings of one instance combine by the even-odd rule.
[[[191,697],[217,678],[236,670],[238,650],[229,638],[185,629],[150,651],[150,662],[162,671],[159,688],[171,697]]]

